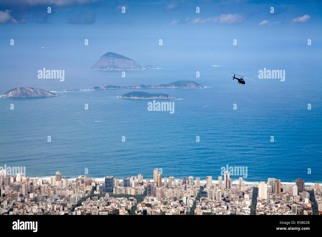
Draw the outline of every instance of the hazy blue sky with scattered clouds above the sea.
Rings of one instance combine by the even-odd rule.
[[[322,1],[1,0],[0,44],[9,47],[14,39],[17,47],[77,50],[88,39],[96,59],[105,51],[136,59],[273,59],[304,54],[310,39],[309,57],[319,58],[321,6]]]

